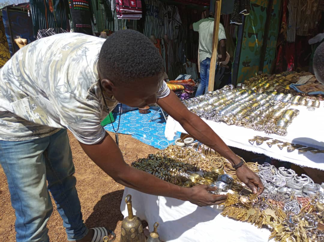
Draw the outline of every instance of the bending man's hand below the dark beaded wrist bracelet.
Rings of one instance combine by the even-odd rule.
[[[237,168],[236,176],[241,182],[245,183],[254,194],[260,195],[263,192],[264,186],[260,177],[252,172],[246,165]]]

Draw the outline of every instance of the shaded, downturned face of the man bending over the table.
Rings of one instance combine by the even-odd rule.
[[[130,107],[143,108],[156,103],[156,93],[163,83],[163,74],[134,80],[131,84],[113,86],[116,100]]]

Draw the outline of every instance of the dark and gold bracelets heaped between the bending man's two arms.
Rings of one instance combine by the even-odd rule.
[[[258,171],[257,163],[248,162],[246,165],[252,171]],[[170,145],[157,154],[138,159],[132,166],[184,187],[207,184],[218,187],[218,192],[227,192],[229,189],[240,192],[245,187],[238,180],[230,162],[213,149],[199,143],[188,148]]]

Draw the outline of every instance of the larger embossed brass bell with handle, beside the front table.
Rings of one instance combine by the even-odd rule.
[[[121,223],[120,242],[146,242],[142,221],[138,216],[133,215],[132,196],[127,195],[125,202],[127,204],[128,217],[125,217]]]

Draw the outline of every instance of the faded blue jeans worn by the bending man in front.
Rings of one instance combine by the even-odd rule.
[[[87,235],[66,130],[34,140],[0,140],[0,163],[16,213],[17,242],[49,242],[46,223],[53,206],[48,190],[63,219],[68,240]]]

